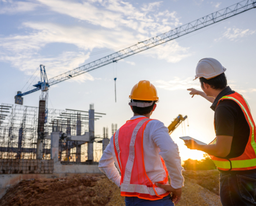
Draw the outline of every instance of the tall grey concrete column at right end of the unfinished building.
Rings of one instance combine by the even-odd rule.
[[[87,161],[93,162],[93,143],[94,143],[94,107],[89,109],[89,142],[87,148]]]

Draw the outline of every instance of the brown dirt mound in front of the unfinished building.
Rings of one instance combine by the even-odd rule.
[[[124,202],[119,193],[105,176],[24,180],[10,188],[0,205],[115,206]]]

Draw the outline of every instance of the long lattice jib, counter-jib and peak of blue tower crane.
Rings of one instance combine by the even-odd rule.
[[[256,0],[245,0],[245,1],[239,2],[237,4],[234,4],[227,8],[221,9],[221,10],[211,13],[209,15],[203,16],[202,18],[200,18],[198,20],[192,21],[188,24],[179,26],[179,27],[172,29],[168,32],[162,33],[161,35],[158,35],[156,37],[147,39],[145,41],[138,42],[137,44],[134,44],[130,47],[119,50],[118,52],[115,52],[106,57],[100,58],[93,62],[87,63],[87,64],[79,66],[77,68],[74,68],[73,70],[71,70],[69,72],[66,72],[64,74],[61,74],[61,75],[58,75],[56,77],[49,79],[49,81],[47,81],[47,78],[42,78],[43,76],[44,77],[47,77],[47,76],[46,76],[44,66],[40,65],[41,82],[38,82],[37,84],[35,84],[34,87],[36,87],[36,88],[33,90],[30,90],[30,91],[27,91],[24,93],[19,91],[17,93],[17,95],[15,96],[15,103],[22,105],[23,104],[22,96],[24,96],[24,95],[36,92],[38,90],[45,92],[53,84],[65,81],[67,79],[76,77],[76,76],[84,74],[86,72],[96,70],[96,68],[102,67],[104,65],[107,65],[107,64],[110,64],[113,62],[117,62],[118,60],[124,59],[131,55],[138,54],[140,52],[143,52],[144,50],[147,50],[147,49],[153,48],[157,45],[161,45],[161,44],[164,44],[171,40],[177,39],[179,37],[187,35],[188,33],[197,31],[199,29],[202,29],[209,25],[215,24],[222,20],[231,18],[232,16],[235,16],[239,13],[243,13],[252,8],[256,8]]]

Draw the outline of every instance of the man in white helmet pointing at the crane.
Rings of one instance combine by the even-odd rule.
[[[209,145],[186,140],[189,149],[210,155],[220,171],[222,205],[256,205],[256,133],[245,98],[227,86],[226,69],[213,58],[198,62],[195,78],[203,91],[188,89],[212,102],[216,137]]]

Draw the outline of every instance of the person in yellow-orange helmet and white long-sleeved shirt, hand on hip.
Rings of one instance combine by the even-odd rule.
[[[182,194],[183,167],[168,128],[149,118],[157,106],[157,90],[142,80],[129,98],[133,117],[111,137],[99,169],[121,188],[126,205],[174,205]]]

